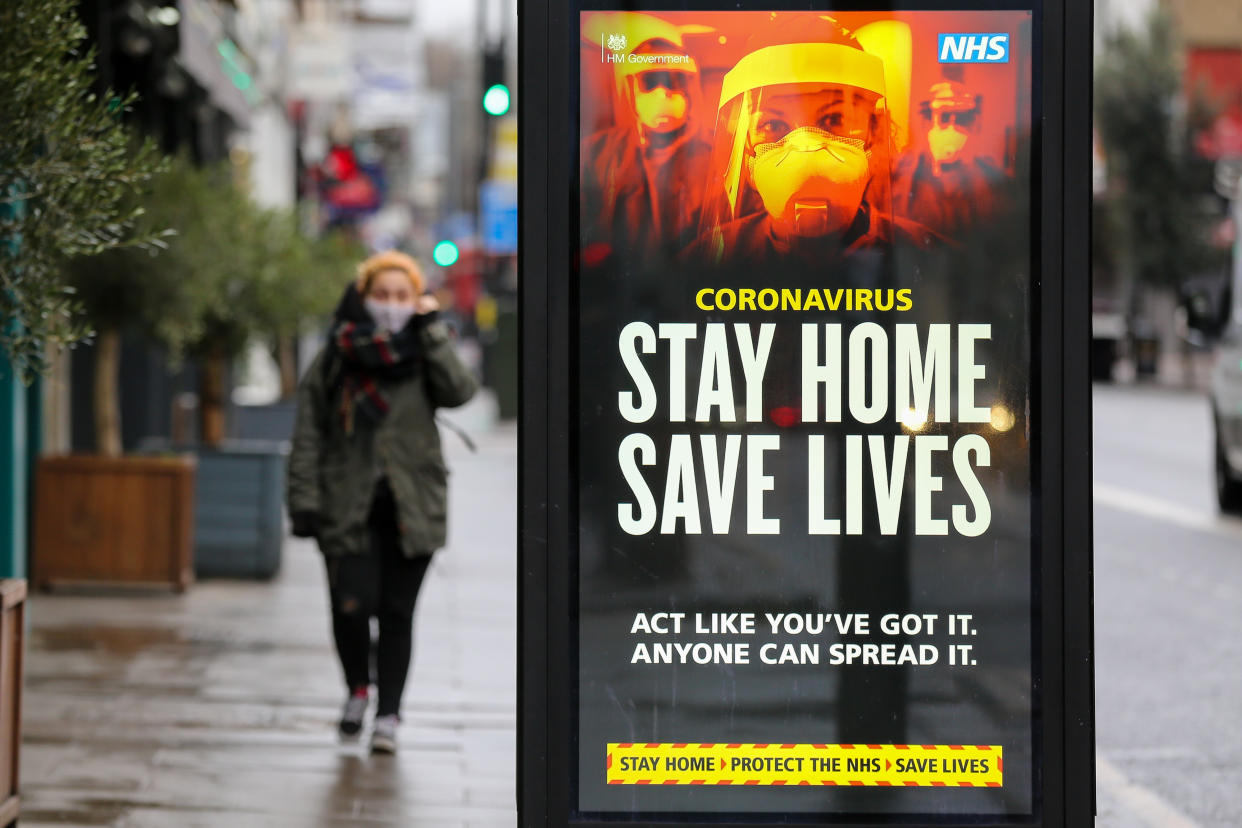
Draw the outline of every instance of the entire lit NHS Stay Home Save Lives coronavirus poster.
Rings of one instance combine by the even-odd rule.
[[[1036,12],[578,29],[576,814],[1032,819]]]

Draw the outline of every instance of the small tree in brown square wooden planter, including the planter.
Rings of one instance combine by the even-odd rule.
[[[194,227],[214,221],[214,176],[176,159],[143,194],[140,223]],[[180,237],[169,240],[175,250]],[[43,457],[36,468],[34,577],[63,582],[158,583],[193,580],[191,454],[123,456],[118,405],[122,334],[176,354],[196,335],[211,286],[180,269],[169,251],[125,247],[66,263],[96,333],[94,454]]]

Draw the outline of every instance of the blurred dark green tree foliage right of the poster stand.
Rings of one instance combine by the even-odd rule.
[[[1110,36],[1095,61],[1095,125],[1109,176],[1097,230],[1118,266],[1149,287],[1175,287],[1221,256],[1207,242],[1206,161],[1191,149],[1208,113],[1197,98],[1180,103],[1179,53],[1172,19],[1158,9],[1145,27]]]

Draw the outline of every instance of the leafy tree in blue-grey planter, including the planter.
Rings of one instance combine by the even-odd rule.
[[[194,274],[201,292],[185,305],[195,319],[179,324],[178,343],[199,366],[195,571],[271,577],[284,540],[284,457],[292,427],[276,439],[230,437],[231,367],[250,343],[292,338],[308,317],[330,309],[356,251],[339,238],[308,240],[293,212],[258,207],[232,176],[217,178],[210,207],[200,210],[210,220],[186,223],[160,257]],[[229,254],[221,256],[222,250]],[[163,336],[170,341],[173,331]]]

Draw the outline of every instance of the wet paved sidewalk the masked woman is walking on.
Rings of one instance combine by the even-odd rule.
[[[322,562],[289,539],[272,582],[31,597],[22,827],[514,826],[517,437],[473,437],[445,434],[397,756],[338,744]]]

